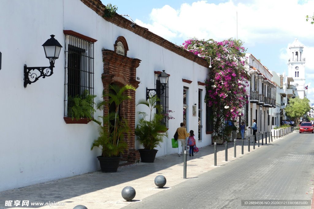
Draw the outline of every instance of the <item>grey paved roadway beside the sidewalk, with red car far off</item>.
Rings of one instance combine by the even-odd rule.
[[[241,159],[125,208],[307,208],[314,183],[314,134],[293,133]],[[253,201],[255,206],[241,205]],[[272,201],[276,202],[272,202]],[[283,202],[278,202],[282,200]],[[266,202],[265,202],[266,201]],[[268,202],[269,201],[269,202]],[[257,206],[274,203],[273,206]]]

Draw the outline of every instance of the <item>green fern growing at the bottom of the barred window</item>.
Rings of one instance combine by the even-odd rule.
[[[82,91],[81,95],[68,97],[68,116],[78,120],[79,118],[92,119],[94,109],[94,98],[96,95],[90,94],[88,90]]]

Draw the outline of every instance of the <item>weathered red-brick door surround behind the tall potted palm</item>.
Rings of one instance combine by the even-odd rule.
[[[101,74],[104,94],[108,93],[109,84],[117,85],[131,84],[136,89],[139,81],[136,81],[136,68],[141,60],[129,58],[126,55],[117,54],[112,50],[102,50],[104,72]],[[130,100],[122,102],[120,105],[120,117],[127,119],[131,133],[126,136],[128,150],[123,154],[122,160],[127,162],[136,162],[140,159],[138,150],[135,149],[135,91],[127,91],[127,95],[131,96]],[[104,98],[107,100],[108,98]],[[103,114],[108,112],[104,110]]]

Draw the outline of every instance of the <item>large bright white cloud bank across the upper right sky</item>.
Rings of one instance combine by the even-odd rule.
[[[257,41],[291,40],[291,36],[311,39],[309,34],[314,33],[314,27],[305,21],[305,16],[312,15],[313,8],[314,0],[302,5],[297,0],[255,0],[245,4],[232,0],[219,4],[198,1],[183,3],[178,10],[169,5],[154,8],[150,24],[136,22],[172,42],[178,37],[222,40],[236,38],[237,12],[238,38],[254,45]]]

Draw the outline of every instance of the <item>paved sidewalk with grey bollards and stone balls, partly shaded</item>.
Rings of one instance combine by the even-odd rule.
[[[295,132],[296,133],[296,132]],[[265,136],[264,136],[265,137]],[[283,140],[283,138],[276,140]],[[267,139],[268,140],[268,139]],[[274,139],[273,139],[274,140]],[[276,141],[274,140],[274,142]],[[240,157],[249,157],[247,140],[244,143],[244,154],[241,154],[241,140],[237,140],[236,158],[234,158],[233,143],[228,143],[228,161],[225,161],[225,145],[217,145],[217,166],[214,166],[214,145],[200,148],[194,157],[187,154],[187,179],[183,179],[184,156],[177,154],[157,157],[154,163],[138,163],[118,169],[116,173],[102,173],[100,171],[27,186],[19,189],[0,192],[0,208],[73,208],[84,205],[89,209],[122,208],[132,201],[125,201],[121,191],[125,186],[132,186],[136,191],[134,201],[141,201],[165,189],[171,189],[189,178],[194,178],[204,172],[218,168]],[[250,151],[267,149],[267,144],[260,147],[250,143]],[[272,142],[271,142],[272,143]],[[270,148],[270,147],[269,147]],[[187,152],[188,153],[188,152]],[[160,189],[154,184],[157,175],[164,175],[167,183]],[[12,206],[6,207],[5,201],[29,200],[30,203],[64,203],[65,206]],[[29,204],[30,204],[29,203]]]

